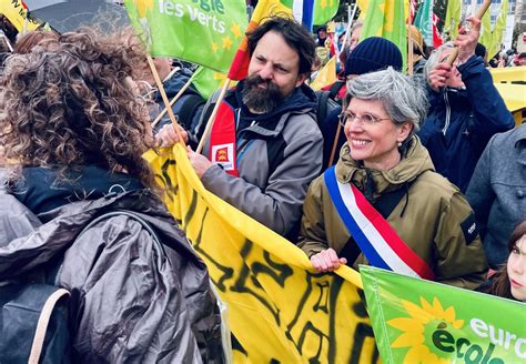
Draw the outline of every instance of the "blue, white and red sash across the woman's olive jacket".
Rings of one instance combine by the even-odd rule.
[[[433,280],[434,273],[413,252],[352,183],[341,183],[334,166],[324,173],[328,194],[371,265],[393,272]]]

